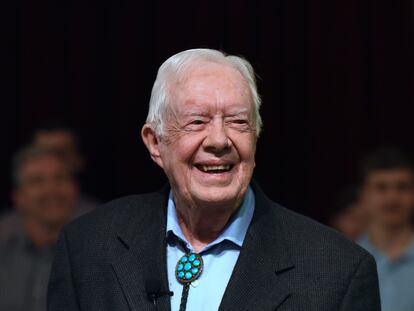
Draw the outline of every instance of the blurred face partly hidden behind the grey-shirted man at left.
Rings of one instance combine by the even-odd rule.
[[[65,130],[39,131],[35,135],[34,143],[37,146],[50,148],[60,153],[75,172],[82,169],[82,159],[72,133]]]

